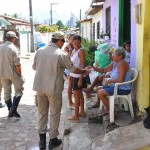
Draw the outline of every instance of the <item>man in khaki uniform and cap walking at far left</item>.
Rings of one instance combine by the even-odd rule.
[[[17,112],[20,99],[23,95],[23,79],[18,49],[14,45],[18,37],[13,31],[6,33],[6,42],[0,45],[0,77],[4,88],[4,100],[8,107],[8,117],[20,118]],[[15,95],[11,99],[11,85],[14,85]]]

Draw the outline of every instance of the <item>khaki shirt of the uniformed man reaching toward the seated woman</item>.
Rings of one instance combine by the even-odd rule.
[[[33,69],[36,70],[33,90],[48,94],[62,92],[64,88],[64,70],[74,72],[76,67],[67,54],[56,44],[37,51],[34,57]]]

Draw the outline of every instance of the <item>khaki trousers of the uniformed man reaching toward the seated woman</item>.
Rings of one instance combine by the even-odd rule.
[[[39,134],[46,133],[50,107],[49,137],[50,139],[53,139],[59,135],[58,127],[62,108],[62,92],[53,95],[37,92],[37,101],[39,113]]]

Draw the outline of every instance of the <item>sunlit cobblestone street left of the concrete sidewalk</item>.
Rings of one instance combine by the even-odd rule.
[[[34,54],[30,56],[30,59],[21,59],[23,76],[25,78],[24,95],[18,107],[18,112],[21,115],[21,118],[8,118],[7,107],[5,106],[0,109],[0,150],[39,149],[39,137],[37,133],[38,112],[34,101],[35,92],[32,90],[34,78],[34,71],[32,70],[33,55]],[[4,103],[3,100],[2,102]],[[62,109],[60,138],[63,138],[63,126],[64,121]],[[47,137],[47,143],[48,141]]]

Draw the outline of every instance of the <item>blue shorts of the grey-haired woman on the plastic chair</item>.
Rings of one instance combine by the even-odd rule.
[[[103,85],[103,89],[107,92],[108,95],[114,95],[114,86],[106,86]],[[131,90],[123,90],[118,89],[118,95],[128,95],[131,92]]]

